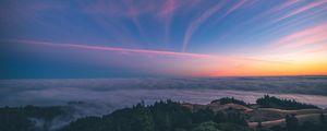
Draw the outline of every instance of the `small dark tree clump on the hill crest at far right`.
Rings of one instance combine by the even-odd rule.
[[[294,99],[280,99],[275,96],[265,95],[263,98],[258,98],[256,104],[264,108],[278,108],[278,109],[317,109],[314,105],[303,104],[295,102]]]

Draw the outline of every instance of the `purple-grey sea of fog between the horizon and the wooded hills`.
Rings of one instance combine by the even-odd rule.
[[[0,107],[60,105],[74,110],[53,119],[50,130],[81,117],[101,116],[142,100],[145,104],[161,99],[209,104],[217,98],[234,97],[255,103],[265,94],[327,108],[327,78],[0,80]],[[41,119],[31,119],[44,123]]]

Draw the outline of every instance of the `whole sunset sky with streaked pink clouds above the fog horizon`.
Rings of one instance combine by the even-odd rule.
[[[0,79],[327,75],[327,0],[1,0]]]

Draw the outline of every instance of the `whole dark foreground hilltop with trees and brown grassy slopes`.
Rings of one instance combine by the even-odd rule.
[[[0,129],[1,131],[327,130],[326,109],[268,95],[257,102],[259,103],[246,104],[225,97],[207,105],[172,100],[156,102],[153,105],[140,103],[104,116],[85,116],[60,128],[50,124],[53,120],[58,120],[58,116],[64,118],[72,111],[66,107],[4,107],[0,108]]]

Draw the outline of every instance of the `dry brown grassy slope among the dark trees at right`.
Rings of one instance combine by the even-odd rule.
[[[250,116],[249,118],[249,126],[256,127],[257,121],[262,121],[263,127],[272,127],[272,126],[284,126],[284,117],[288,114],[296,115],[296,118],[300,122],[304,121],[312,121],[312,122],[319,122],[319,115],[324,114],[327,115],[327,110],[325,109],[299,109],[299,110],[283,110],[283,109],[276,109],[276,108],[258,108],[252,109],[247,108],[242,105],[237,104],[208,104],[208,105],[193,105],[193,104],[185,104],[185,107],[191,108],[193,111],[198,109],[210,108],[214,111],[222,111],[228,108],[233,109],[241,109],[244,110],[245,114]]]

